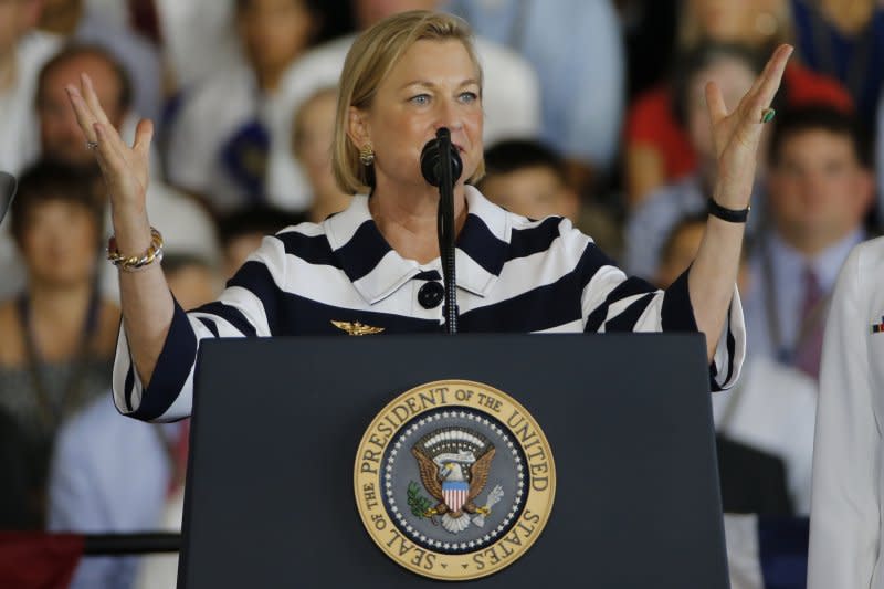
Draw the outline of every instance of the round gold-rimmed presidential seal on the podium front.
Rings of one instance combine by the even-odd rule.
[[[356,455],[356,502],[371,539],[441,580],[512,565],[540,536],[556,494],[549,443],[508,395],[466,380],[390,402]]]

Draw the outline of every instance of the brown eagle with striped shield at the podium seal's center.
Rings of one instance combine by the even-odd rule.
[[[471,522],[483,526],[485,516],[503,497],[498,485],[484,506],[475,503],[485,488],[495,454],[487,438],[464,428],[446,428],[422,438],[411,453],[418,460],[423,487],[438,502],[421,515],[433,523],[440,517],[442,527],[452,534],[463,532]]]

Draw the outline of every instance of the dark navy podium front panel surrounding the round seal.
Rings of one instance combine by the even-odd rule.
[[[698,335],[460,335],[204,343],[179,586],[444,585],[372,543],[354,462],[373,417],[424,382],[518,400],[552,448],[557,491],[514,565],[461,587],[726,588]]]

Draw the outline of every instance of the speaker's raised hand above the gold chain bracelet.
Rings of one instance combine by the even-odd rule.
[[[154,125],[143,119],[129,147],[110,124],[86,74],[80,76],[80,87],[65,87],[77,124],[102,169],[110,196],[117,246],[125,254],[136,254],[150,245],[146,198],[149,177],[150,139]]]

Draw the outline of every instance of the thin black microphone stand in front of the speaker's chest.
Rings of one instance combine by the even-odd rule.
[[[457,276],[454,262],[454,178],[451,167],[451,133],[446,128],[436,132],[439,152],[439,253],[442,261],[442,280],[445,283],[445,298],[442,314],[445,317],[445,333],[457,333]]]

